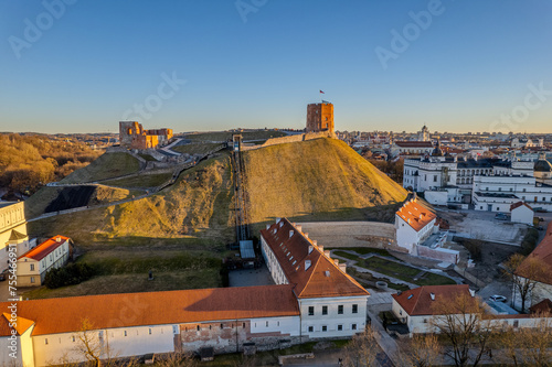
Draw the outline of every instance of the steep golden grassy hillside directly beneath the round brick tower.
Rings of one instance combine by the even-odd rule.
[[[390,220],[406,198],[401,185],[336,139],[251,150],[244,160],[253,223],[282,216]]]

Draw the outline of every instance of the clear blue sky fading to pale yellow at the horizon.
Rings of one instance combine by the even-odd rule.
[[[552,132],[549,0],[66,1],[0,0],[0,131],[302,128],[322,89],[337,130]]]

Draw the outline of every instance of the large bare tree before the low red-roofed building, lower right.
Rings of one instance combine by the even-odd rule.
[[[434,304],[433,327],[450,347],[445,355],[456,366],[477,366],[487,352],[493,327],[476,298],[461,293],[454,299],[440,299]]]

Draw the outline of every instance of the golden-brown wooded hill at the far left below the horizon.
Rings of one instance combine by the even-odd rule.
[[[46,183],[88,165],[102,153],[75,139],[0,133],[0,187],[32,195]]]

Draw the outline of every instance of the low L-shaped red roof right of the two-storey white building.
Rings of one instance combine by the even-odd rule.
[[[432,293],[435,294],[435,301],[432,300]],[[468,284],[424,285],[402,292],[401,294],[393,294],[393,299],[411,316],[434,315],[433,305],[437,300],[454,300],[461,293],[471,295]]]

